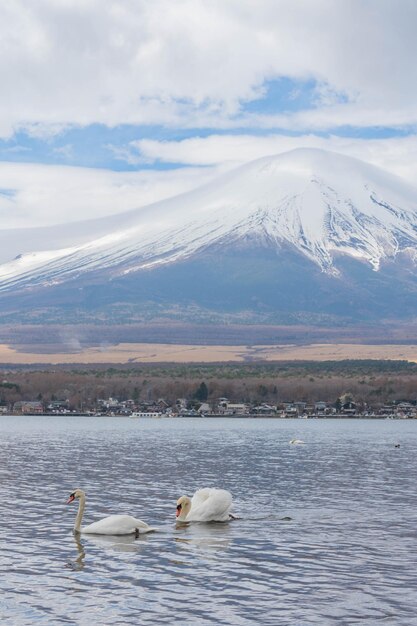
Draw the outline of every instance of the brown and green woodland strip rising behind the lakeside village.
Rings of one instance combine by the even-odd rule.
[[[4,370],[0,403],[69,400],[72,407],[94,406],[98,399],[174,404],[178,398],[234,402],[336,402],[349,393],[376,408],[417,398],[417,365],[405,361],[256,363],[218,365],[138,365],[53,367]]]

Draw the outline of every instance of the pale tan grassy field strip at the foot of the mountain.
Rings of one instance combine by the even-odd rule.
[[[126,363],[222,363],[252,361],[344,361],[350,359],[417,362],[416,345],[306,344],[271,346],[203,346],[120,343],[101,348],[45,354],[37,346],[17,350],[0,345],[0,363],[25,364],[126,364]]]

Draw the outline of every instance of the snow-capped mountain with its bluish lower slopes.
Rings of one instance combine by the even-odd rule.
[[[114,303],[126,294],[140,303],[142,291],[149,296],[143,304],[154,298],[170,306],[177,298],[185,306],[200,267],[209,278],[194,298],[207,307],[210,293],[213,310],[298,307],[306,315],[342,319],[344,307],[348,317],[356,307],[360,319],[372,305],[389,317],[411,315],[417,304],[417,189],[372,165],[317,149],[263,157],[123,215],[64,231],[3,232],[0,248],[2,241],[3,261],[13,245],[23,246],[0,265],[3,302],[19,293],[35,304],[40,294],[44,301],[58,294],[65,300],[68,286],[110,301],[113,293]],[[176,284],[182,294],[175,294]],[[344,286],[352,305],[343,301]],[[270,297],[273,289],[285,291],[287,303]],[[82,298],[80,306],[87,306]]]

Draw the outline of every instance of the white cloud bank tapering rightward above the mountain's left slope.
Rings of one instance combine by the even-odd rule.
[[[128,211],[188,191],[218,171],[112,172],[0,163],[0,229],[65,224]]]

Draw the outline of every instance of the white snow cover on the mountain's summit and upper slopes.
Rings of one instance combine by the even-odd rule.
[[[247,237],[290,244],[326,273],[337,274],[339,254],[378,270],[399,252],[416,258],[417,189],[359,160],[297,149],[169,200],[72,224],[68,232],[3,232],[2,260],[12,245],[20,254],[0,265],[0,289],[56,284],[95,270],[126,274]]]

